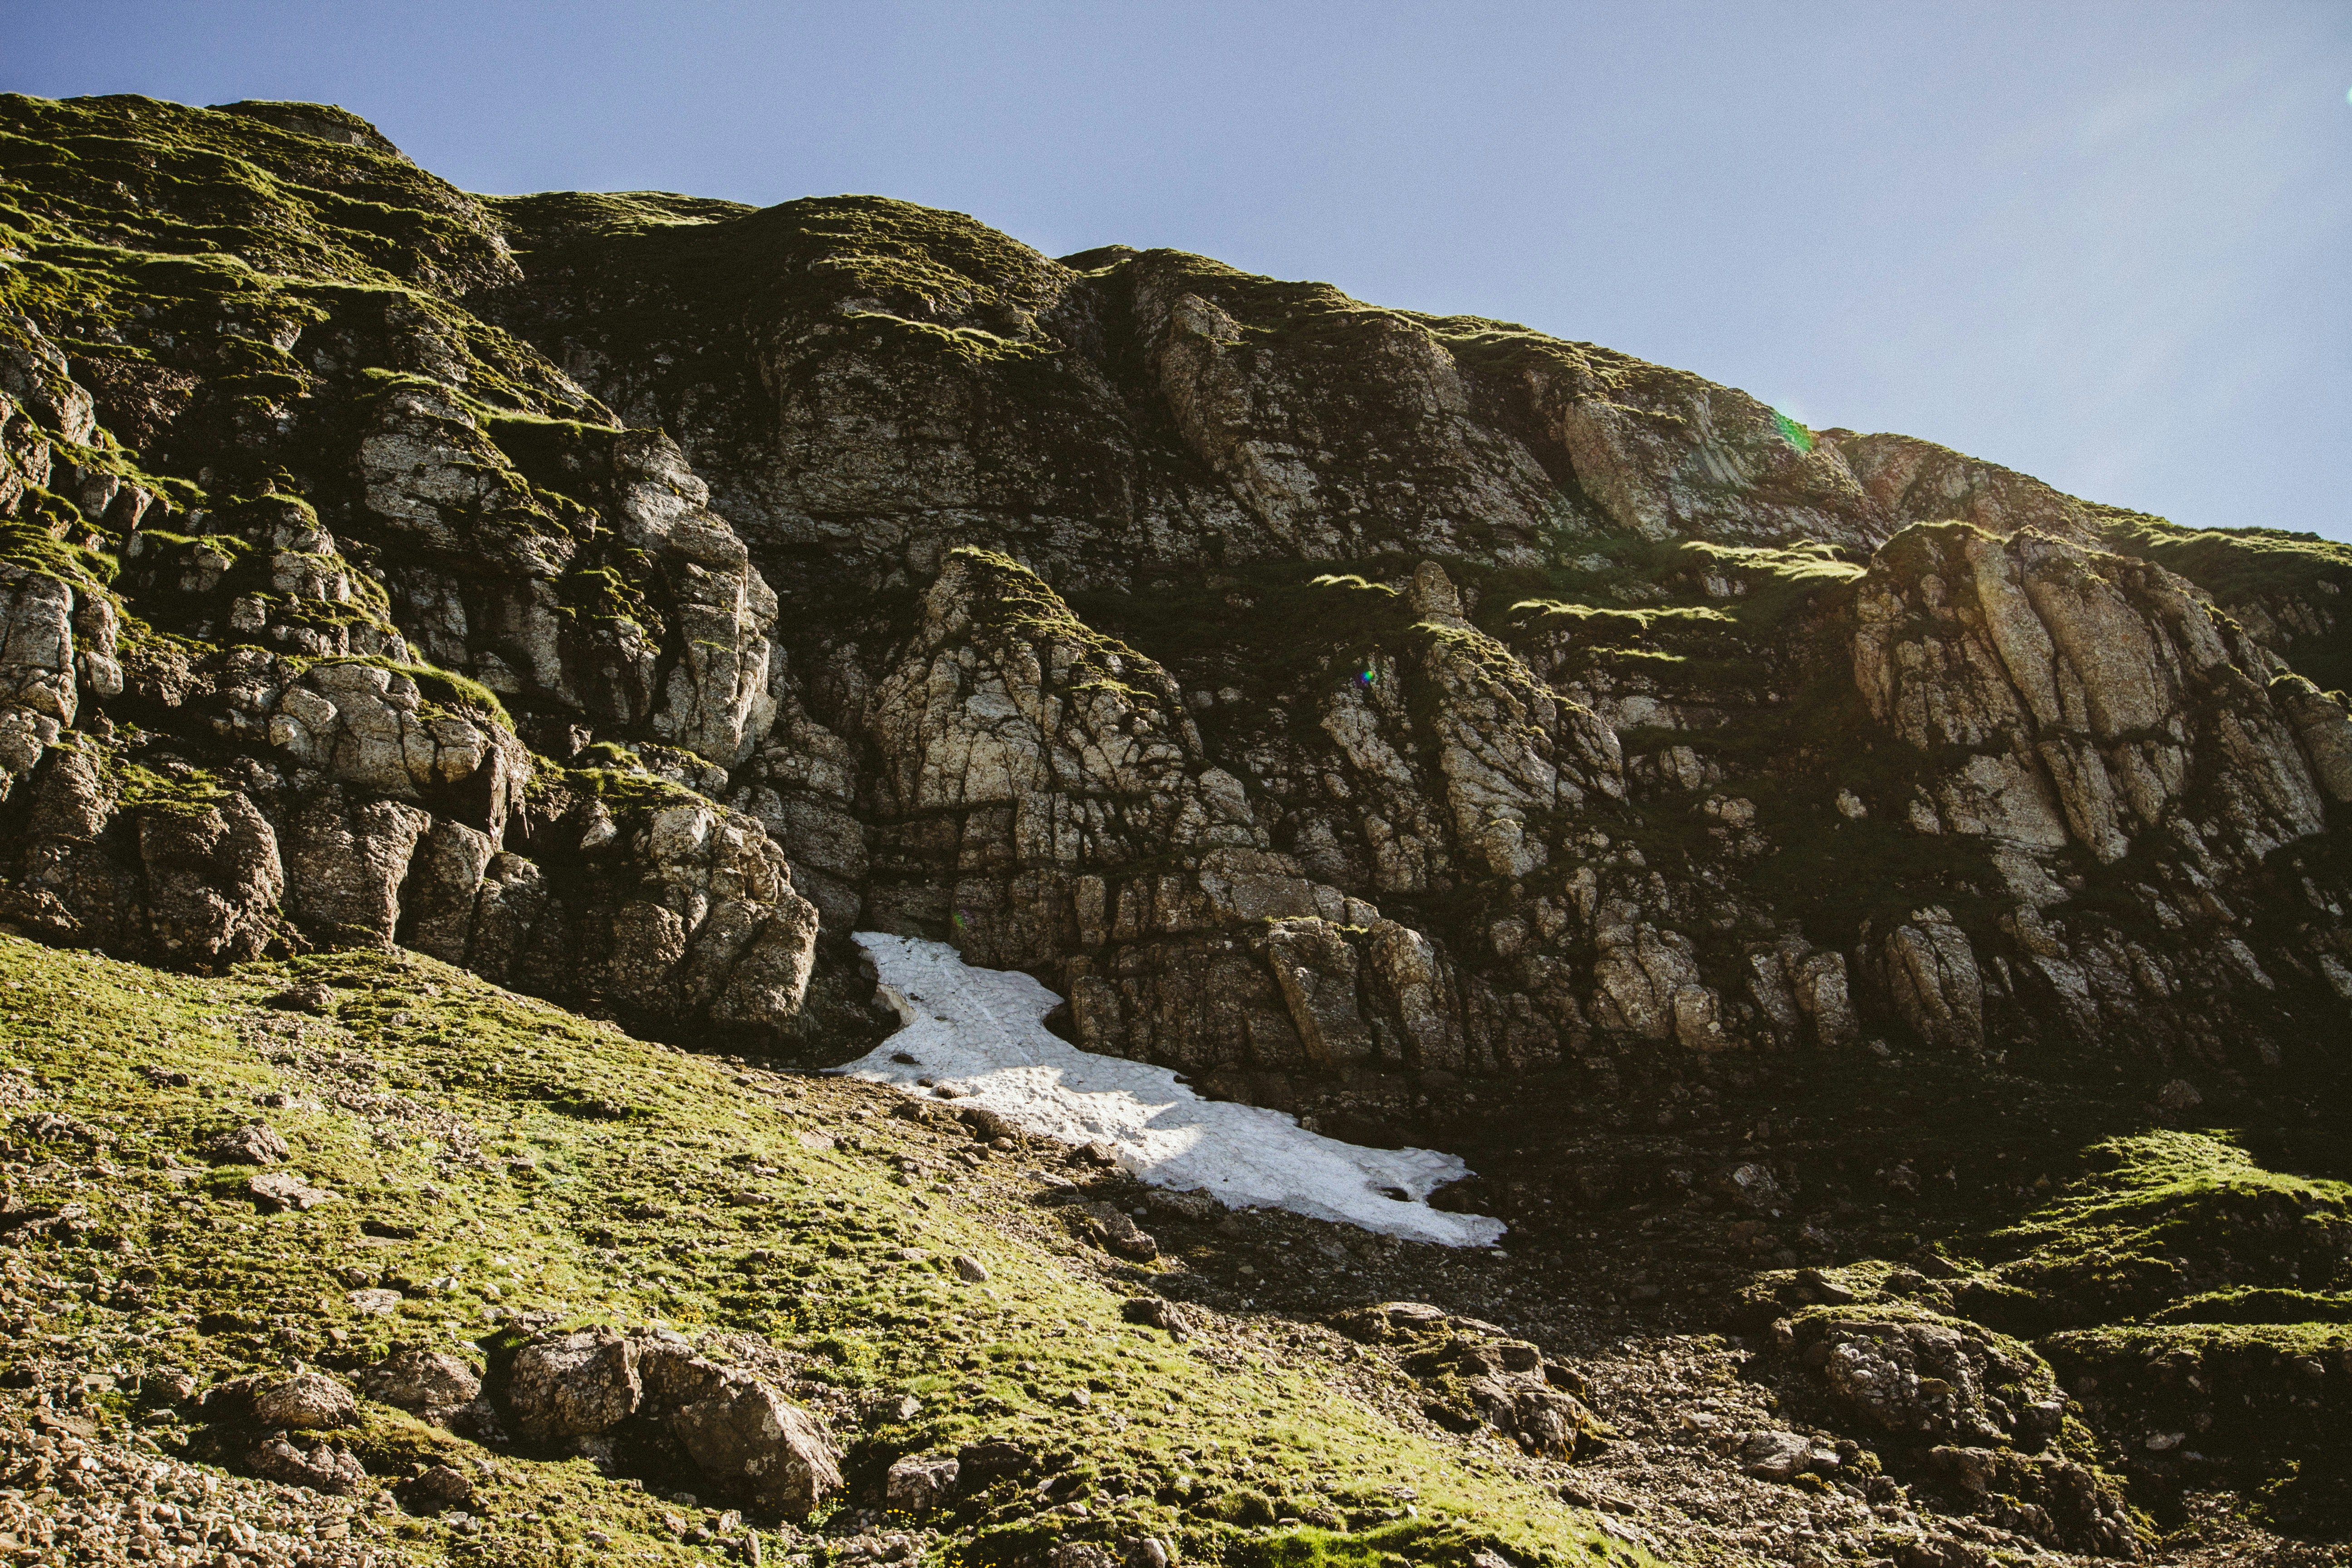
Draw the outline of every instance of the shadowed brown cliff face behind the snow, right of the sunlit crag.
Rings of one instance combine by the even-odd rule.
[[[501,214],[485,308],[809,607],[866,917],[1047,971],[1089,1046],[1397,1110],[1642,1041],[2131,1020],[2258,1072],[2340,1023],[2336,872],[2225,889],[2331,858],[2343,705],[2152,559],[2216,536],[1192,256]],[[2345,562],[2296,571],[2319,625]]]

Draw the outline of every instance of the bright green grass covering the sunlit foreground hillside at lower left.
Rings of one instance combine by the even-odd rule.
[[[294,983],[336,987],[332,1018],[268,1006]],[[896,1103],[887,1091],[736,1072],[407,954],[214,980],[0,938],[0,1070],[42,1095],[16,1107],[12,1143],[40,1145],[9,1150],[7,1185],[26,1201],[87,1206],[75,1241],[14,1253],[73,1293],[28,1291],[19,1274],[9,1354],[47,1347],[113,1373],[118,1392],[96,1396],[103,1420],[143,1441],[176,1448],[198,1420],[136,1394],[169,1368],[209,1385],[303,1356],[348,1375],[395,1338],[473,1354],[466,1342],[496,1345],[489,1314],[522,1305],[557,1324],[767,1335],[804,1363],[804,1396],[854,1443],[854,1495],[896,1453],[981,1434],[1091,1474],[1087,1519],[1040,1516],[1035,1490],[1000,1483],[943,1521],[938,1559],[1148,1530],[1185,1561],[1461,1563],[1479,1542],[1522,1561],[1630,1561],[1517,1467],[1482,1458],[1491,1448],[1406,1432],[1343,1394],[1343,1375],[1385,1375],[1369,1359],[1317,1375],[1270,1354],[1244,1321],[1185,1345],[1122,1324],[1122,1291],[1011,1199],[1018,1178],[985,1161],[967,1173],[962,1135],[877,1114]],[[193,1084],[155,1084],[143,1067]],[[261,1095],[292,1103],[261,1107]],[[56,1124],[42,1133],[42,1114],[96,1143]],[[343,1201],[259,1215],[242,1192],[249,1168],[167,1168],[247,1119],[278,1126],[289,1164]],[[362,1222],[414,1237],[369,1237]],[[929,1258],[901,1262],[901,1248]],[[943,1267],[955,1253],[983,1258],[990,1284],[955,1281]],[[409,1293],[393,1319],[362,1316],[346,1295],[355,1279]],[[1082,1387],[1091,1403],[1073,1408]],[[920,1415],[858,1434],[854,1396],[901,1389]],[[397,1410],[362,1408],[353,1446],[379,1474],[449,1450],[485,1458]],[[480,1507],[492,1533],[407,1521],[419,1561],[713,1554],[663,1526],[668,1502],[583,1460],[501,1455],[492,1474]],[[1418,1490],[1416,1519],[1395,1519],[1388,1488],[1399,1483]],[[1247,1493],[1282,1514],[1336,1507],[1355,1533],[1268,1526]],[[1261,1523],[1228,1519],[1251,1514]],[[517,1523],[527,1516],[536,1523]],[[583,1544],[590,1533],[612,1544]],[[797,1549],[826,1556],[821,1537]]]

